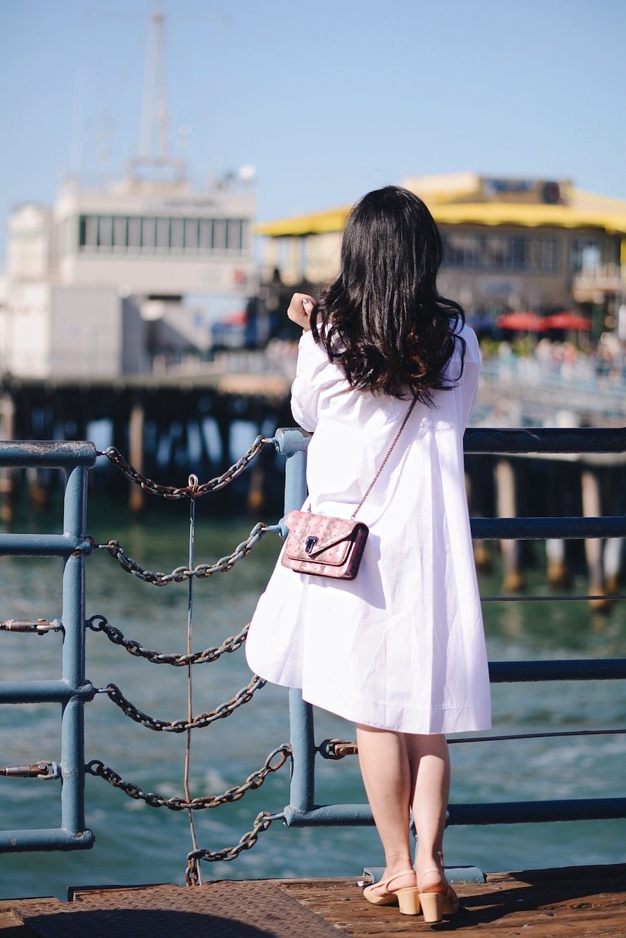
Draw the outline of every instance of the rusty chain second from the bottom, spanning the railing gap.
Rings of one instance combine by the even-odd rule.
[[[276,756],[278,759],[274,762]],[[150,808],[168,808],[171,811],[183,811],[186,809],[201,810],[204,808],[217,808],[218,805],[239,801],[240,798],[244,797],[246,792],[261,788],[267,776],[272,772],[277,772],[279,768],[282,768],[290,756],[290,744],[283,743],[282,746],[278,746],[270,752],[261,768],[248,775],[246,781],[242,782],[241,785],[234,785],[232,788],[227,789],[224,794],[205,794],[199,798],[191,798],[191,800],[176,796],[166,798],[165,795],[158,794],[157,792],[144,792],[139,785],[136,785],[132,781],[126,781],[119,776],[117,772],[114,772],[109,765],[100,762],[99,759],[94,759],[92,762],[85,765],[85,770],[91,775],[97,776],[97,778],[108,781],[113,788],[121,789],[129,798],[144,801]]]

